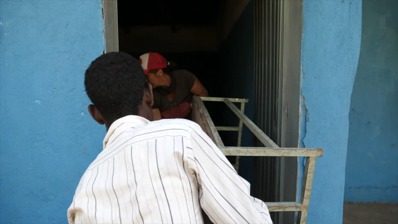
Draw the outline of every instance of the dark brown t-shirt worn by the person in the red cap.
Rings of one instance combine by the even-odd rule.
[[[174,70],[170,75],[171,79],[171,91],[175,92],[174,99],[172,101],[167,99],[167,94],[164,93],[164,91],[161,90],[161,88],[154,88],[153,90],[153,99],[154,99],[154,104],[152,106],[152,109],[159,109],[162,118],[164,114],[167,114],[168,110],[176,108],[175,111],[173,111],[172,114],[179,114],[178,110],[186,110],[187,105],[192,102],[192,97],[193,94],[191,93],[191,88],[193,84],[195,83],[195,75],[193,73],[184,70],[184,69],[178,69]],[[180,107],[181,109],[179,109]],[[191,108],[189,108],[190,111]],[[162,113],[164,112],[164,113]],[[184,114],[184,112],[181,112]],[[178,115],[177,117],[167,117],[167,118],[179,118]],[[188,118],[184,116],[184,118]]]

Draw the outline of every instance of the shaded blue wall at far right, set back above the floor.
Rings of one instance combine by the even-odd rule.
[[[363,0],[345,201],[398,202],[398,1]]]

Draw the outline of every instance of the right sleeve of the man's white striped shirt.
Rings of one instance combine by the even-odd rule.
[[[265,203],[250,196],[250,184],[236,173],[217,145],[194,125],[191,133],[200,204],[213,223],[272,224]]]

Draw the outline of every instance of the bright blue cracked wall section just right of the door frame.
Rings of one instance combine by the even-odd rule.
[[[309,224],[342,223],[350,98],[361,44],[361,0],[304,0],[301,147],[322,147]],[[301,167],[303,166],[301,160]]]

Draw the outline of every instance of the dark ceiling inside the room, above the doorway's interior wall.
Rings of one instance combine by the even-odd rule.
[[[118,0],[119,49],[217,51],[250,0]]]

